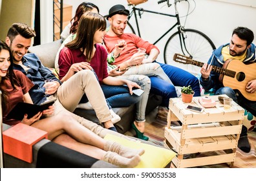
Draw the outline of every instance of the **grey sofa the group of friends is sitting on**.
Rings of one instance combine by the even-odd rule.
[[[53,41],[51,43],[45,43],[43,45],[37,45],[29,48],[29,52],[36,54],[43,65],[48,68],[54,68],[54,60],[56,57],[56,53],[58,52],[59,47],[61,46],[61,39],[57,41]],[[146,114],[153,111],[160,103],[162,102],[161,96],[156,96],[154,94],[149,94],[149,100],[147,102]],[[116,129],[119,133],[126,133],[131,129],[131,123],[135,118],[135,105],[131,105],[129,107],[118,107],[113,108],[113,111],[116,112],[121,117],[121,121],[115,123]],[[87,120],[91,120],[92,122],[99,123],[98,118],[93,110],[85,110],[85,109],[76,109],[74,111],[75,114],[83,116]]]

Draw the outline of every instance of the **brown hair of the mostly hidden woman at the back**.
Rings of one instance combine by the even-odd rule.
[[[98,12],[100,12],[98,6],[94,5],[93,3],[83,2],[81,3],[78,8],[76,8],[75,16],[70,20],[71,27],[70,27],[70,34],[75,34],[78,28],[78,22],[80,21],[81,16],[85,12],[91,11],[93,8],[96,8]]]

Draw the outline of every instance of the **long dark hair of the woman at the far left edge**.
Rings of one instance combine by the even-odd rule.
[[[6,43],[2,40],[0,40],[0,52],[2,52],[2,50],[8,50],[9,54],[10,54],[10,66],[8,68],[7,74],[5,77],[2,77],[2,80],[0,81],[0,83],[2,84],[4,82],[5,79],[10,79],[10,83],[12,85],[12,87],[14,89],[16,89],[15,85],[17,84],[17,77],[16,74],[14,74],[14,60],[12,58],[12,51],[10,50],[10,48],[8,47],[8,45],[6,45]],[[2,92],[2,107],[3,109],[7,108],[7,92],[6,90],[1,89],[0,87],[0,91]]]

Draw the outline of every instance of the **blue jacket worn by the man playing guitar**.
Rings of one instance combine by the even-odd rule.
[[[220,46],[216,50],[213,50],[213,54],[211,54],[208,64],[216,67],[222,67],[224,64],[224,60],[223,60],[224,58],[221,54],[221,51],[223,47],[226,47],[228,45],[229,43],[227,43],[226,45]],[[244,59],[243,63],[245,64],[256,63],[255,48],[256,48],[255,45],[251,43],[251,47],[248,48],[246,53],[246,58]],[[224,87],[223,84],[219,81],[219,76],[220,76],[219,73],[211,71],[209,80],[202,80],[202,76],[200,77],[200,84],[206,91],[213,88],[213,91],[215,92],[218,89],[220,89],[220,87]]]

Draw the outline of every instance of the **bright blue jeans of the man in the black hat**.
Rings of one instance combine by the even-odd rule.
[[[163,97],[162,105],[169,107],[169,99],[177,97],[175,86],[183,87],[191,85],[193,91],[195,91],[194,96],[200,96],[200,85],[196,76],[172,65],[165,63],[159,64],[172,82],[169,83],[156,76],[149,77],[151,80],[151,92]]]

